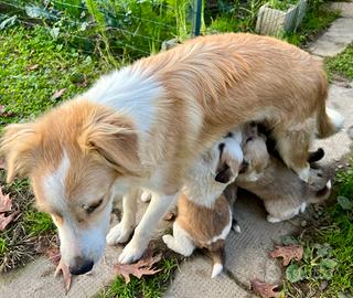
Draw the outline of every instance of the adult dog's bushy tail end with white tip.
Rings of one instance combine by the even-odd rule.
[[[344,117],[334,109],[325,107],[324,102],[320,105],[317,116],[317,137],[328,138],[339,132],[344,125]]]

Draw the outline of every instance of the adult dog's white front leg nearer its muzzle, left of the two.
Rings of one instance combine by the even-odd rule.
[[[125,243],[129,240],[136,225],[137,198],[140,190],[133,189],[122,196],[122,219],[116,226],[111,227],[106,240],[108,245]]]

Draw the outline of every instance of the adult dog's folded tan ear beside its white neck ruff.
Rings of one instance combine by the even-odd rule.
[[[137,134],[124,115],[95,115],[83,129],[78,143],[84,152],[95,153],[121,174],[138,174]]]

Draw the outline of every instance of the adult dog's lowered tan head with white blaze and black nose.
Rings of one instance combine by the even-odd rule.
[[[57,226],[61,254],[72,274],[101,257],[113,185],[139,169],[137,137],[122,115],[87,102],[50,111],[35,123],[10,125],[1,140],[8,181],[29,177],[40,210]]]

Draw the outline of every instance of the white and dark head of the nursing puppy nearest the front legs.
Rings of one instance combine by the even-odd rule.
[[[236,132],[228,134],[218,143],[218,163],[215,181],[229,184],[234,182],[243,163],[242,138]]]

